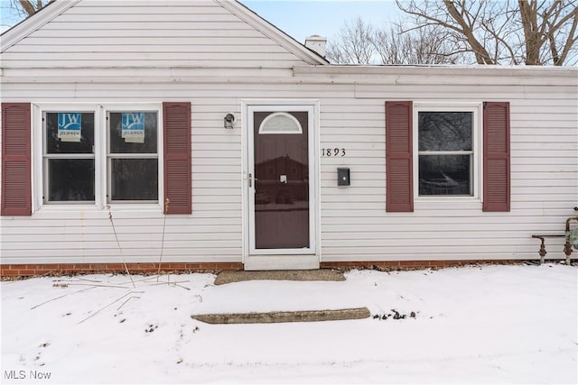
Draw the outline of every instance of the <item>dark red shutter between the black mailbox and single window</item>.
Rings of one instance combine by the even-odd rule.
[[[386,211],[414,211],[412,102],[386,102]]]

